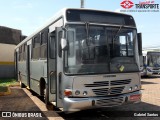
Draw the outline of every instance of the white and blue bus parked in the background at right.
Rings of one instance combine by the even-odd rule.
[[[160,52],[155,50],[142,51],[141,76],[160,74]]]

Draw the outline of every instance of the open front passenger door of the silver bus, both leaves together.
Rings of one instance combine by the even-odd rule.
[[[46,101],[54,102],[56,107],[62,107],[61,99],[61,73],[62,73],[62,58],[59,54],[59,43],[62,36],[62,29],[56,28],[50,31],[48,39],[48,58],[47,58],[47,73],[48,81],[46,86]]]

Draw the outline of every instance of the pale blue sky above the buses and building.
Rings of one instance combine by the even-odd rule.
[[[121,12],[123,0],[84,0],[85,8]],[[134,4],[145,1],[131,0]],[[80,8],[80,0],[1,0],[0,26],[22,31],[29,36],[62,8]],[[160,6],[159,6],[160,7]],[[137,10],[135,5],[128,10]],[[137,31],[142,33],[143,47],[160,46],[160,10],[159,12],[123,12],[134,17]]]

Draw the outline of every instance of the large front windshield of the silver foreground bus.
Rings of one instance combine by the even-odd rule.
[[[136,29],[100,25],[67,25],[68,49],[64,70],[69,74],[138,71]]]

